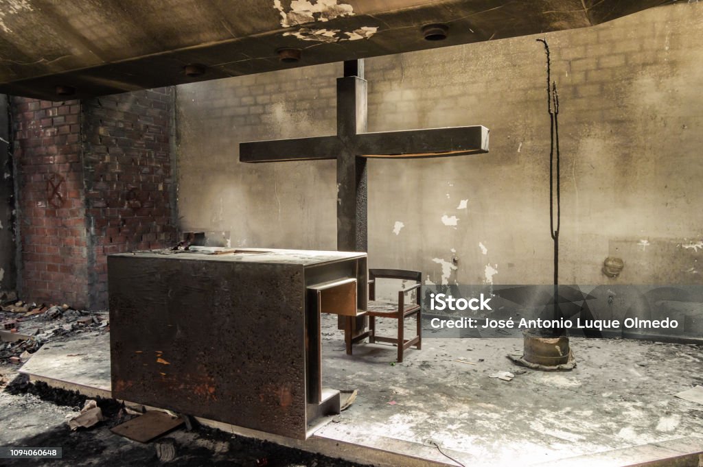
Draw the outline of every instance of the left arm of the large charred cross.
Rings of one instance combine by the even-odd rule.
[[[342,146],[337,136],[239,143],[241,162],[281,162],[336,159]]]

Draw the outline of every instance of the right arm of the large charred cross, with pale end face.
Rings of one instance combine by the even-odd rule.
[[[380,131],[356,136],[362,157],[446,157],[488,152],[485,126],[449,126],[427,130]]]

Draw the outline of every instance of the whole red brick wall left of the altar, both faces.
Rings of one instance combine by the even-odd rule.
[[[105,308],[106,255],[172,243],[171,96],[12,99],[25,301]]]

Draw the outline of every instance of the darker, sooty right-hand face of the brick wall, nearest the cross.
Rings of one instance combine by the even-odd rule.
[[[86,100],[84,180],[91,303],[107,307],[107,255],[174,243],[172,88]]]

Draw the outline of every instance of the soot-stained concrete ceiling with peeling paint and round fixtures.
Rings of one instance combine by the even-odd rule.
[[[0,0],[0,93],[83,98],[597,25],[673,0]],[[444,23],[427,41],[422,27]],[[279,48],[302,50],[283,63]],[[186,65],[204,65],[188,77]]]

